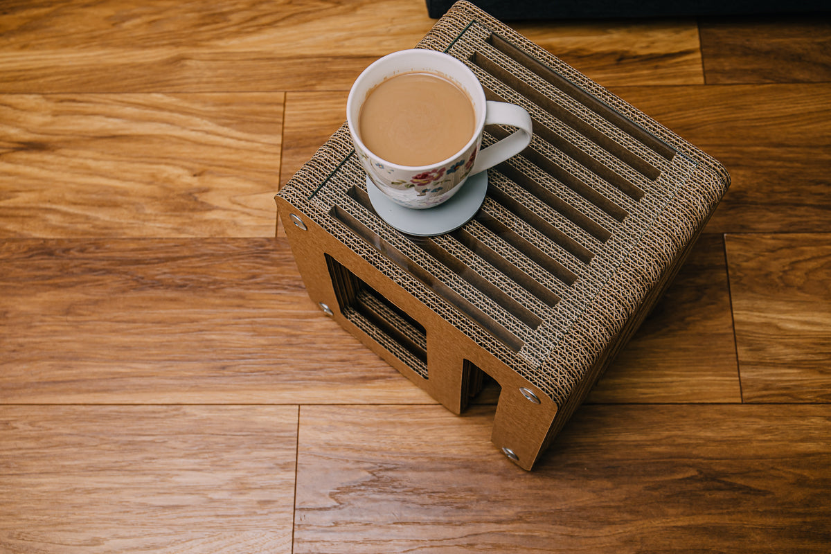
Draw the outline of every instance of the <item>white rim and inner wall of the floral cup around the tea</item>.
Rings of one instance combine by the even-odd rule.
[[[476,98],[470,98],[470,101],[474,105],[474,110],[476,110],[477,105],[482,106],[481,110],[479,110],[480,113],[476,114],[476,126],[475,126],[475,129],[474,129],[473,135],[470,137],[470,140],[468,140],[465,143],[465,145],[462,148],[460,148],[460,150],[456,150],[453,154],[451,154],[447,158],[442,159],[442,160],[440,160],[438,162],[435,162],[433,164],[401,165],[401,164],[396,164],[394,162],[391,162],[387,159],[381,158],[381,156],[379,156],[378,154],[376,154],[372,150],[366,148],[366,145],[361,140],[361,137],[358,135],[357,131],[354,129],[355,125],[353,125],[353,121],[352,121],[352,115],[351,115],[352,114],[352,108],[354,107],[355,102],[356,102],[356,99],[355,99],[356,92],[355,91],[356,91],[357,86],[359,84],[361,84],[361,81],[365,81],[366,79],[368,79],[369,78],[368,76],[371,73],[371,71],[374,70],[377,66],[380,66],[382,63],[386,63],[390,59],[395,59],[397,57],[412,56],[413,54],[417,54],[419,56],[441,56],[446,61],[449,61],[450,65],[455,65],[463,73],[469,74],[470,77],[472,78],[472,80],[475,81],[477,86],[475,87],[475,91],[469,91],[467,89],[467,87],[464,88],[464,91],[465,91],[465,93],[468,93],[471,96],[473,96],[473,95],[476,96]],[[448,77],[450,77],[452,79],[452,76],[448,76]],[[458,86],[464,86],[461,83],[459,83],[458,80],[454,79],[454,81],[455,81],[455,84],[457,84]],[[381,81],[381,82],[383,82],[383,81]],[[381,56],[376,61],[373,61],[369,66],[366,66],[366,68],[363,71],[361,71],[361,75],[359,75],[356,78],[355,82],[352,83],[352,88],[349,89],[349,96],[347,96],[347,124],[349,125],[349,132],[352,135],[352,140],[355,141],[356,145],[359,145],[361,147],[361,150],[364,150],[364,152],[369,153],[369,154],[373,155],[374,157],[376,157],[377,159],[381,160],[385,164],[385,167],[388,167],[390,169],[397,169],[397,170],[401,170],[401,171],[411,171],[411,172],[429,171],[430,169],[439,168],[443,165],[449,164],[451,161],[458,158],[460,154],[464,154],[465,151],[469,150],[472,145],[475,145],[475,143],[479,141],[479,136],[482,134],[482,130],[484,129],[484,118],[485,118],[485,112],[486,111],[487,111],[487,108],[486,108],[486,99],[484,97],[484,89],[482,88],[482,84],[479,82],[479,78],[475,75],[475,73],[473,71],[470,71],[470,67],[465,66],[465,64],[462,61],[455,58],[454,56],[450,56],[450,54],[446,54],[445,52],[440,52],[440,51],[437,51],[437,50],[428,50],[428,49],[425,49],[425,48],[411,48],[409,50],[399,50],[399,51],[391,52],[390,54],[387,54],[386,56]]]

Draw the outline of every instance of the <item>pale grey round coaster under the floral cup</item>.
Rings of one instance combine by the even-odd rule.
[[[372,208],[392,227],[417,237],[435,237],[455,231],[470,221],[488,192],[488,172],[470,175],[458,193],[433,208],[413,209],[396,204],[366,178]]]

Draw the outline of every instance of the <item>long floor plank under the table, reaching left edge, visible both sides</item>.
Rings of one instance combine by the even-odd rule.
[[[0,252],[2,402],[434,402],[322,316],[285,239]],[[720,240],[697,252],[592,401],[737,400]]]

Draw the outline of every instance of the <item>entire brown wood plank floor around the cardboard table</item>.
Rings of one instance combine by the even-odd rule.
[[[0,4],[0,552],[831,550],[831,19],[519,32],[720,159],[526,473],[310,302],[273,195],[421,0]]]

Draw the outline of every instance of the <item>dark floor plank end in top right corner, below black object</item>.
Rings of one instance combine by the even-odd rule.
[[[699,26],[708,84],[831,81],[828,14],[706,17]]]

